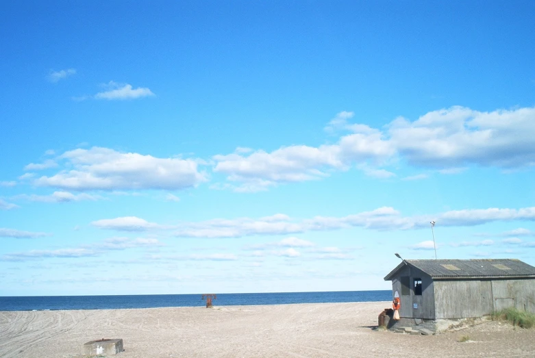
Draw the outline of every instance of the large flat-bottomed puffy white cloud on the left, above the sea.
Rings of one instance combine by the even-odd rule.
[[[35,179],[37,186],[66,190],[177,190],[206,181],[193,159],[157,158],[100,147],[67,151],[60,159],[66,161],[66,168],[51,177]]]

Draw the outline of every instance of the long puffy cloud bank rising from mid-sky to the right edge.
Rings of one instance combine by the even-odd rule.
[[[238,183],[229,188],[253,192],[277,183],[322,179],[352,165],[366,175],[394,177],[384,166],[399,160],[450,175],[466,170],[469,164],[504,169],[535,165],[535,107],[479,112],[456,106],[428,112],[414,121],[395,118],[382,129],[350,125],[351,116],[351,112],[340,112],[327,125],[328,131],[352,132],[336,144],[215,155],[214,171]]]

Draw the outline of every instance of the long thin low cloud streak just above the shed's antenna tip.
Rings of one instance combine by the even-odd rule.
[[[482,225],[487,222],[508,222],[512,220],[535,220],[535,207],[521,209],[465,209],[436,215],[403,216],[393,207],[379,207],[369,212],[360,212],[342,217],[315,216],[295,220],[284,214],[275,214],[260,219],[212,219],[201,222],[178,222],[175,225],[158,225],[146,220],[127,217],[110,220],[98,220],[92,225],[108,229],[140,231],[147,229],[174,229],[174,235],[180,238],[239,238],[251,235],[288,235],[305,231],[326,231],[351,227],[362,227],[379,231],[429,229],[430,220],[436,220],[436,229],[440,227],[463,227]],[[490,242],[484,240],[480,243]],[[297,245],[300,246],[297,246]],[[305,240],[288,238],[280,242],[271,242],[249,249],[267,246],[305,247]]]

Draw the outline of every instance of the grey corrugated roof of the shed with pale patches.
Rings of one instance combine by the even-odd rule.
[[[413,266],[429,274],[434,279],[456,278],[512,278],[534,277],[535,267],[525,264],[518,259],[473,259],[473,260],[405,260]],[[395,276],[397,270],[405,264],[401,262],[386,275],[385,281]]]

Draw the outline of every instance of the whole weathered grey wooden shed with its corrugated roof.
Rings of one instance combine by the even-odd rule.
[[[403,260],[384,279],[399,294],[401,318],[475,318],[506,307],[535,313],[535,267],[518,259]]]

